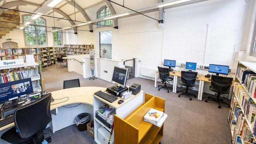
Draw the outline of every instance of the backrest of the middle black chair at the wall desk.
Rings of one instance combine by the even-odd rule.
[[[197,72],[181,71],[181,82],[184,86],[194,86],[196,82]]]

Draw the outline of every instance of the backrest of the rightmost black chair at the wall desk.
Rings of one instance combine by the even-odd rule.
[[[233,78],[212,75],[211,87],[217,93],[228,94]]]

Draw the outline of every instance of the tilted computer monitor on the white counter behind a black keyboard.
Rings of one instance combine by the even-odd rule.
[[[121,67],[114,67],[113,76],[112,76],[112,82],[115,82],[117,84],[118,90],[120,88],[125,88],[126,80],[128,76],[129,69],[127,68],[121,68]]]

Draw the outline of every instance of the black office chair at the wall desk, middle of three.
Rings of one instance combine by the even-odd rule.
[[[189,89],[192,89],[192,87],[195,86],[196,76],[197,76],[197,72],[181,71],[180,84],[185,86],[185,91],[177,91],[178,93],[179,92],[182,93],[182,94],[179,94],[178,97],[180,97],[181,95],[187,95],[189,97],[189,100],[192,100],[192,98],[190,97],[191,95],[196,97],[195,94],[188,92]]]

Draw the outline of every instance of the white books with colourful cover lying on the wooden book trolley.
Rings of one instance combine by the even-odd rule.
[[[161,127],[167,118],[167,114],[162,111],[151,108],[143,117],[144,121],[152,123],[158,127]]]

